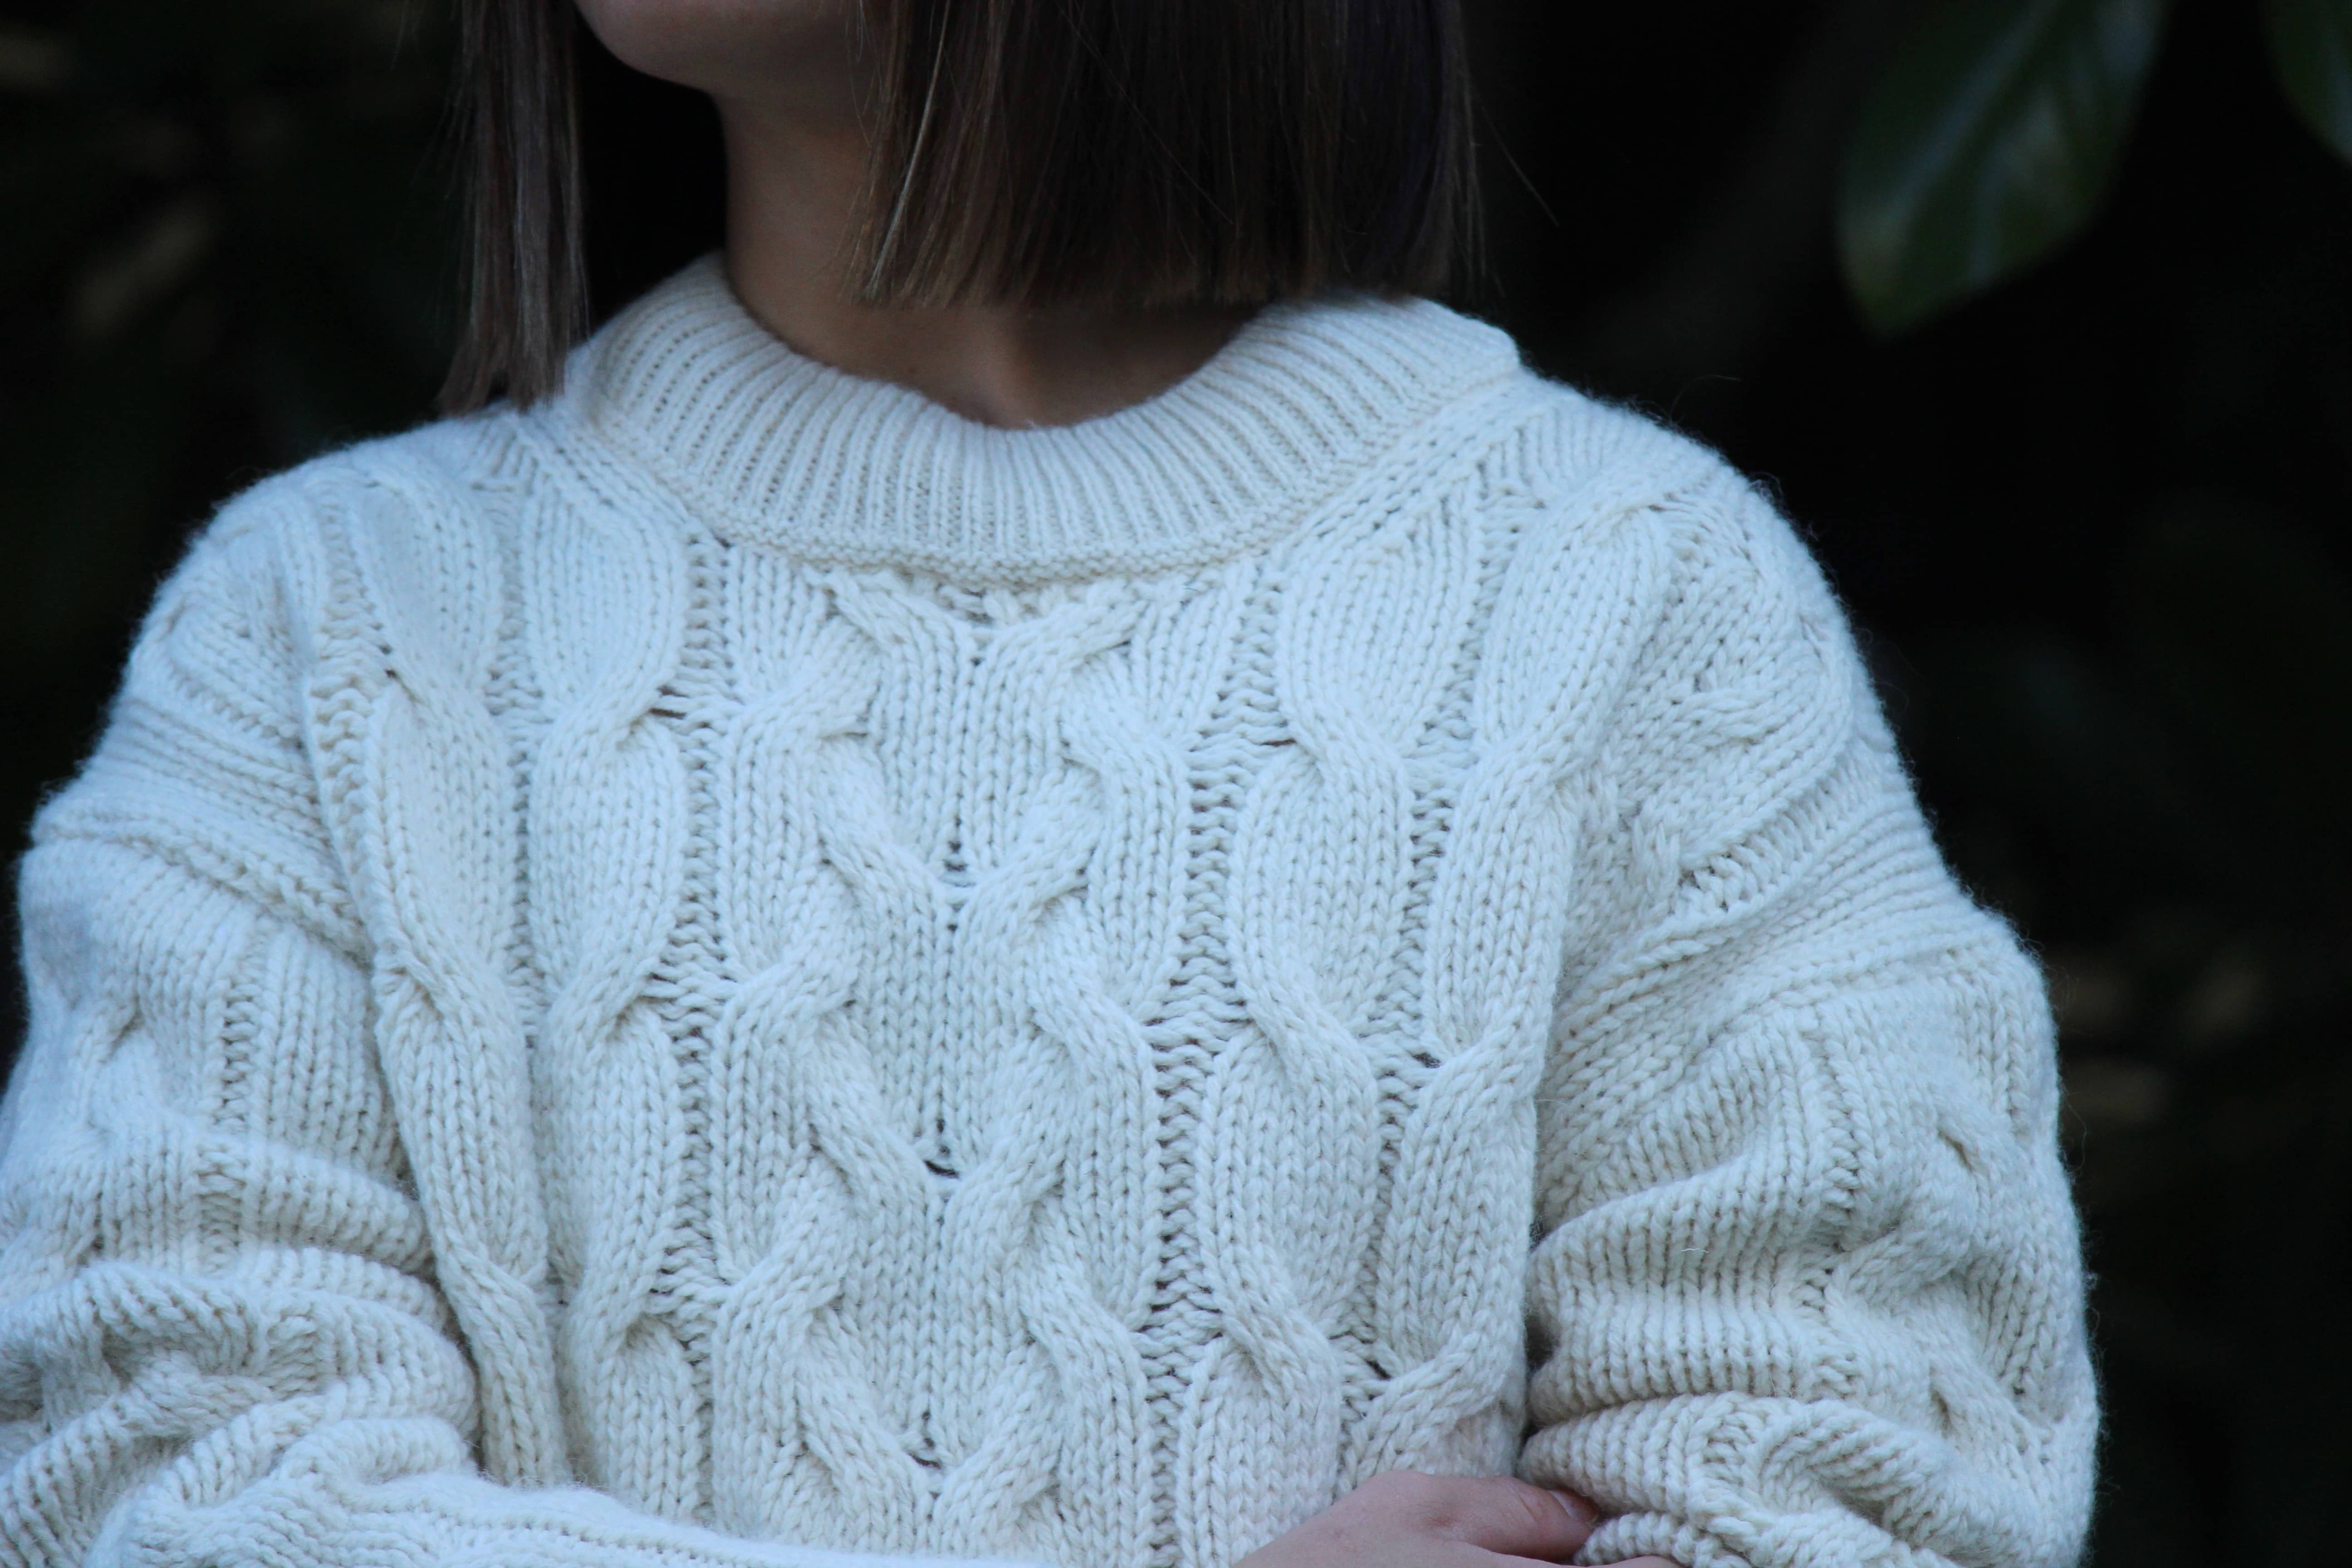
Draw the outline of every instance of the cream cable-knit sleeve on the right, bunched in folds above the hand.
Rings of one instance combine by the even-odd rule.
[[[2042,980],[1940,863],[1842,611],[1719,473],[1588,825],[1522,1469],[1578,1561],[2063,1568],[2096,1396]]]

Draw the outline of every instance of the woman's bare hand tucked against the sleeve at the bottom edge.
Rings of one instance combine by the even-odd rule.
[[[1237,1568],[1548,1568],[1576,1556],[1599,1509],[1512,1476],[1390,1469]],[[1637,1556],[1616,1568],[1675,1568]]]

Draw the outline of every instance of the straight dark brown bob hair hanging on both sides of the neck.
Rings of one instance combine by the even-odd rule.
[[[870,303],[1430,294],[1475,244],[1458,0],[858,0]],[[445,411],[588,331],[572,0],[466,0],[468,299]]]

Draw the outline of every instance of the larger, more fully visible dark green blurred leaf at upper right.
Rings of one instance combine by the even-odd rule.
[[[1846,143],[1837,240],[1893,334],[2039,261],[2098,209],[2171,0],[1947,0]]]

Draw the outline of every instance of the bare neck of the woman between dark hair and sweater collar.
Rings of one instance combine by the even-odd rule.
[[[866,143],[854,118],[816,122],[720,96],[727,275],[797,353],[913,388],[988,425],[1073,425],[1200,369],[1249,310],[870,306],[847,266]]]

